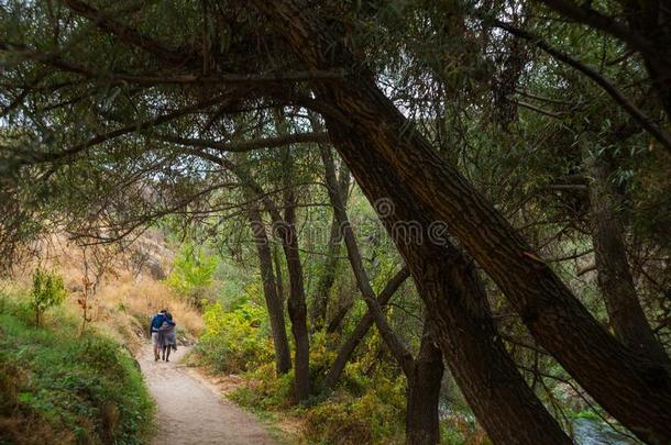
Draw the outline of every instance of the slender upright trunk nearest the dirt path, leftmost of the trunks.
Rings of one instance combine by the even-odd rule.
[[[282,375],[292,369],[290,348],[284,321],[284,304],[275,286],[273,259],[266,229],[255,204],[250,207],[249,215],[252,233],[254,234],[254,242],[256,244],[256,254],[258,256],[258,267],[263,281],[263,294],[268,310],[268,319],[271,320],[271,333],[273,335],[273,346],[275,347],[275,368],[277,369],[277,374]]]

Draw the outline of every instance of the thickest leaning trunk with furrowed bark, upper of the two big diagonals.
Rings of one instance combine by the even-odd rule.
[[[409,201],[415,201],[422,215],[444,221],[538,343],[602,407],[639,438],[670,442],[671,370],[626,347],[600,325],[504,216],[435,153],[377,88],[345,46],[349,40],[342,29],[324,23],[302,1],[255,0],[254,4],[309,68],[350,69],[345,81],[316,81],[318,100],[311,105],[330,123],[329,130],[344,123],[348,132],[365,142],[362,149],[375,154],[362,164],[366,153],[348,153],[346,144],[338,148],[369,198],[381,197],[366,179],[384,163],[395,187],[404,185],[408,194],[402,199],[392,188],[383,196],[397,200],[399,207],[410,208]]]

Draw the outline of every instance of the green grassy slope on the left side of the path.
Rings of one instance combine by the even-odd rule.
[[[79,336],[65,310],[35,327],[24,303],[0,298],[0,444],[146,442],[151,398],[118,342]]]

